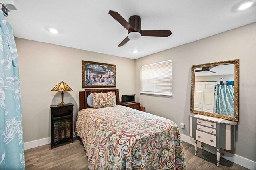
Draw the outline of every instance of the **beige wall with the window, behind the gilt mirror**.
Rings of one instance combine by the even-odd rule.
[[[191,65],[240,59],[239,123],[233,153],[256,161],[256,24],[136,59],[136,100],[146,111],[185,123],[189,136]],[[153,41],[153,40],[152,40]],[[172,97],[140,95],[140,66],[172,59]]]

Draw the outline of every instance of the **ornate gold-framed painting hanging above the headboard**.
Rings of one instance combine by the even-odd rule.
[[[116,65],[82,61],[82,88],[116,87]]]

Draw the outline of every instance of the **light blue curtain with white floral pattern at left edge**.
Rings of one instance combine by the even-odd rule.
[[[0,169],[25,169],[18,54],[0,10]]]

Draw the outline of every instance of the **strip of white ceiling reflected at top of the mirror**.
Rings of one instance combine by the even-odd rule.
[[[202,68],[196,68],[196,70],[202,70]],[[214,71],[216,73],[208,72],[196,72],[195,76],[210,76],[210,75],[230,75],[234,74],[234,64],[227,64],[227,65],[218,65],[210,69],[210,71]]]

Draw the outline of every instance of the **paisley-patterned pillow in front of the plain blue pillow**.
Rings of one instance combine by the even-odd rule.
[[[93,93],[93,108],[98,109],[102,107],[116,106],[115,93]]]

